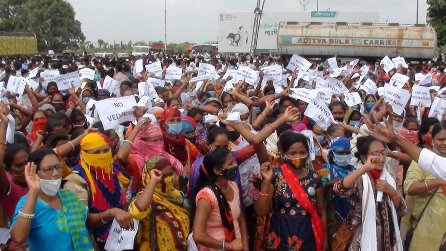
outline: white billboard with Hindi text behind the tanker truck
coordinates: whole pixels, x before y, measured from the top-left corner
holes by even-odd
[[[379,12],[263,12],[257,40],[258,52],[277,50],[279,25],[295,22],[379,23]],[[218,14],[218,50],[248,53],[252,40],[254,13],[223,12]]]

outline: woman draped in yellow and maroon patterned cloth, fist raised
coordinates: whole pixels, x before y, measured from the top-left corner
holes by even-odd
[[[145,161],[142,190],[129,206],[129,212],[141,221],[140,250],[186,250],[190,232],[189,212],[178,174],[170,161],[158,156]]]

